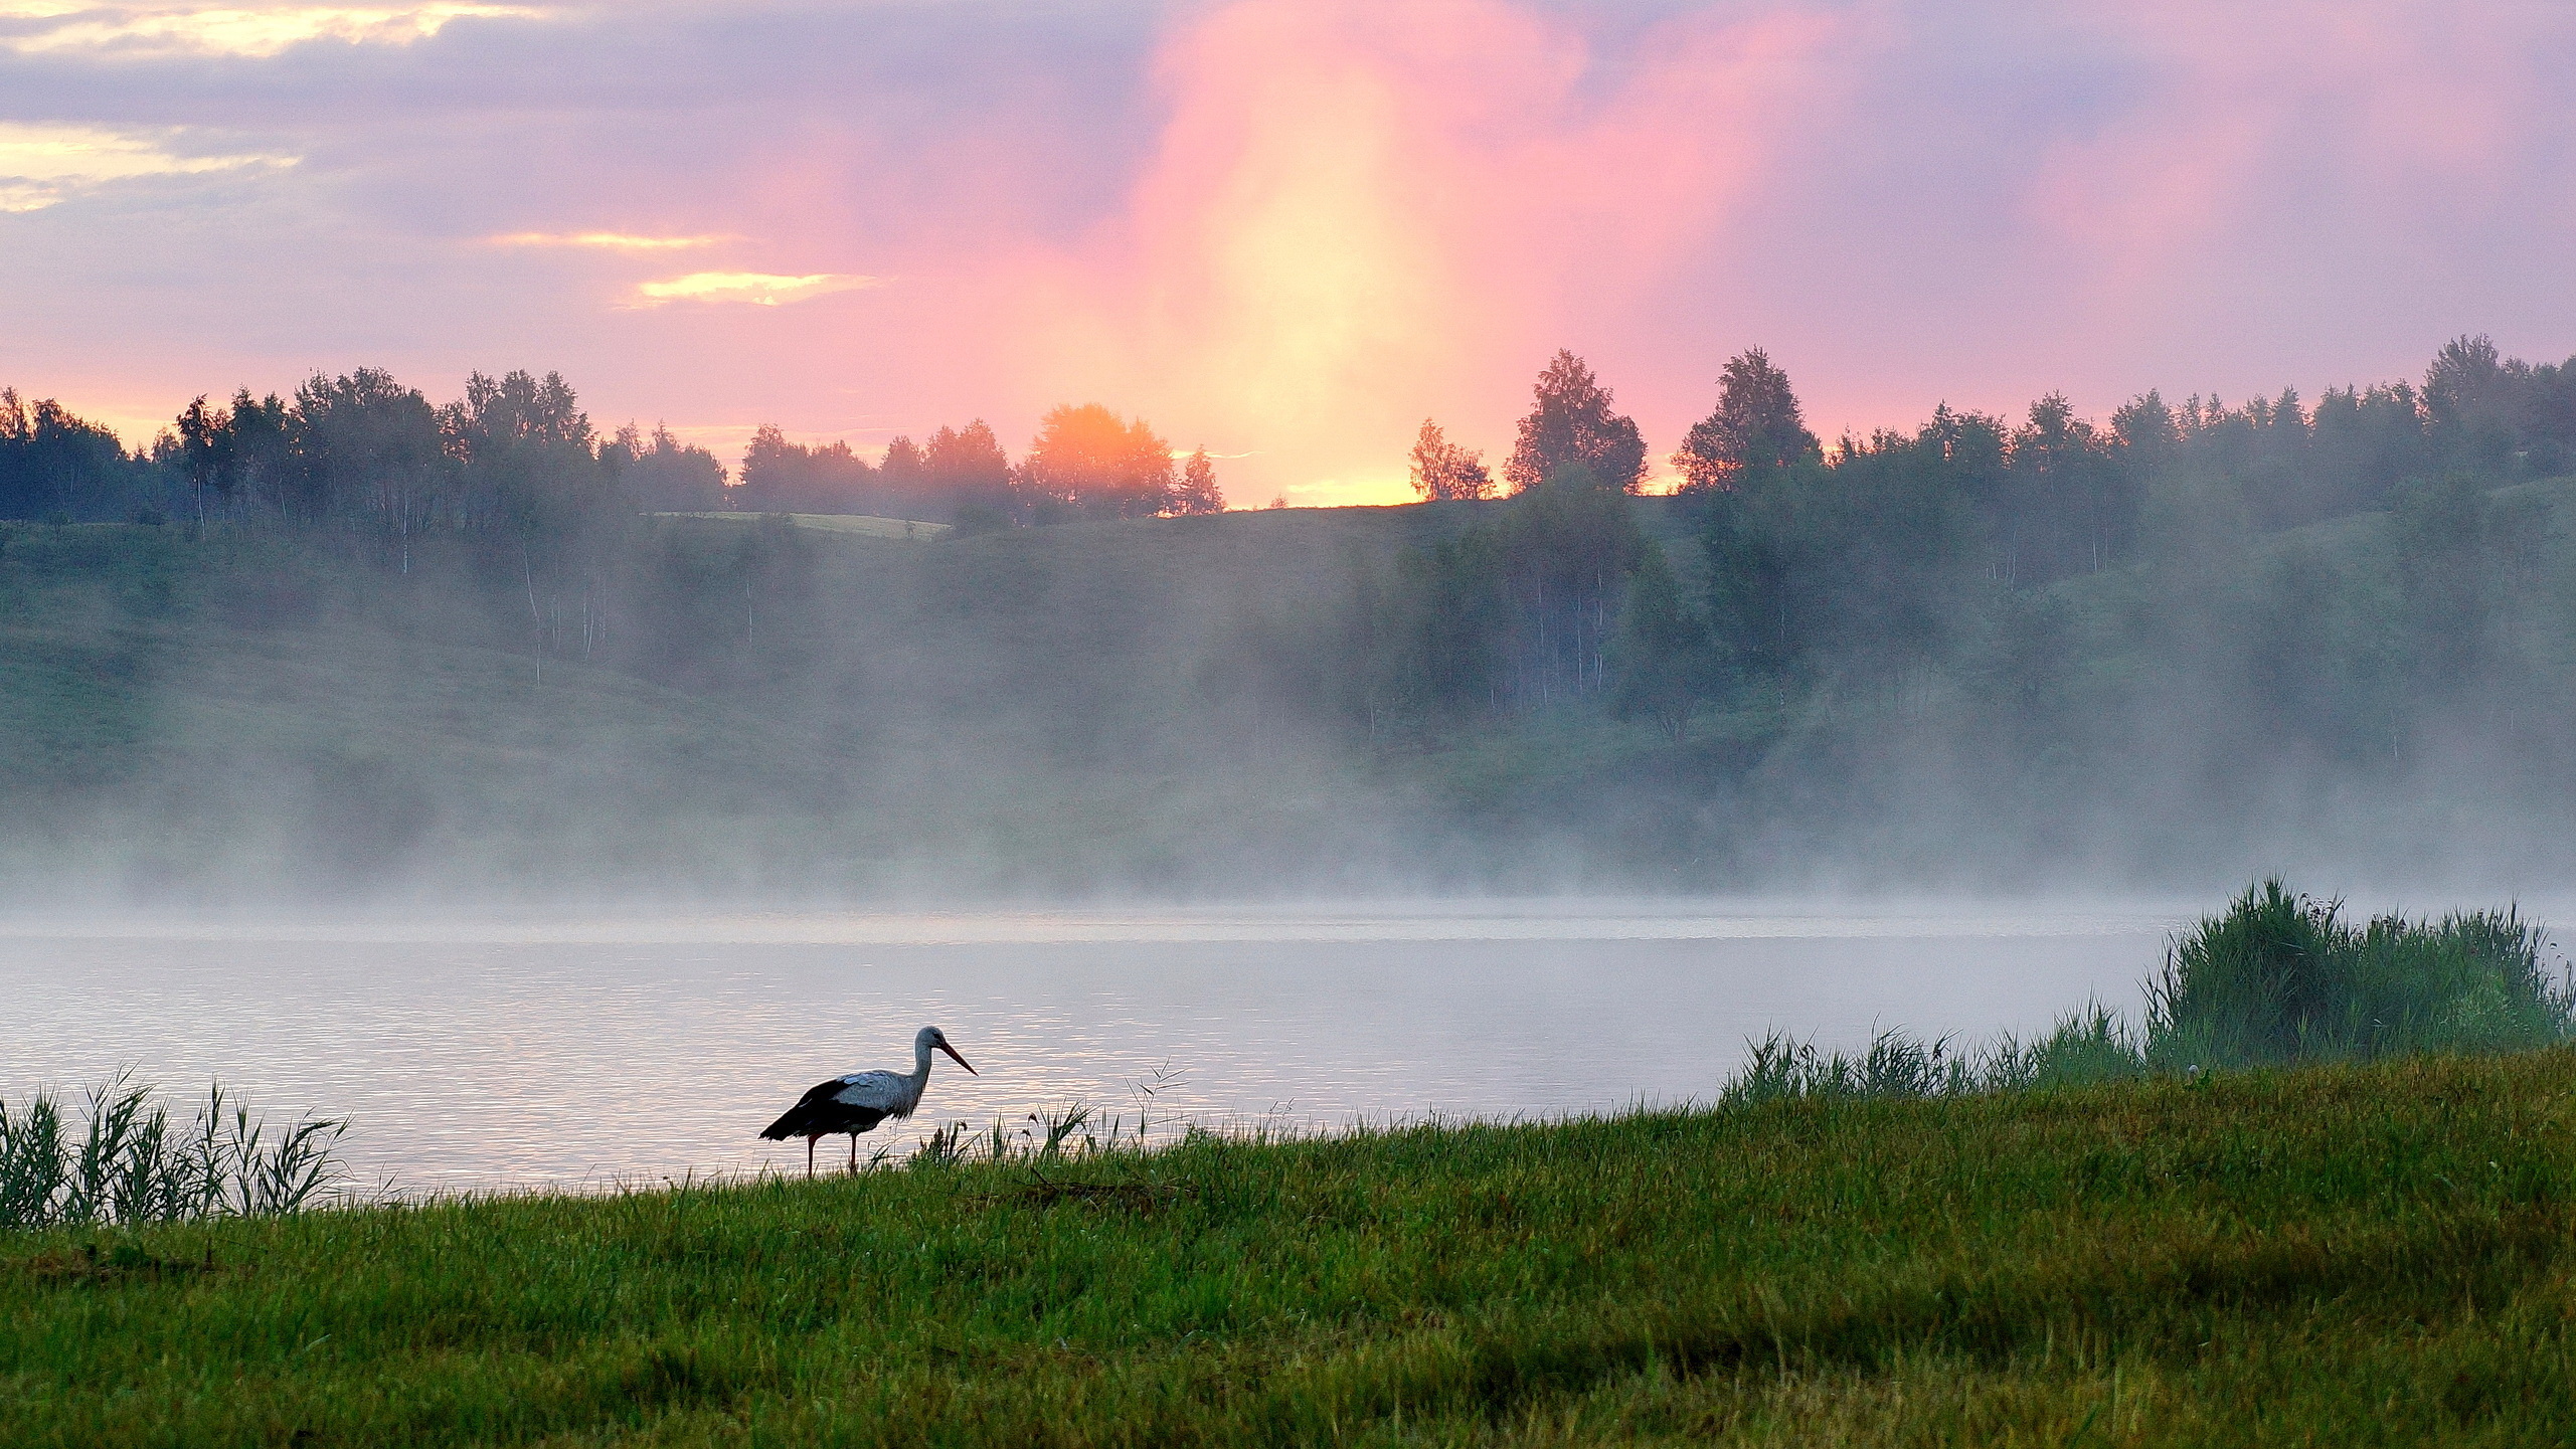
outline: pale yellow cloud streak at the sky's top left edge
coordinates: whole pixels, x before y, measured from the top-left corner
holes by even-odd
[[[18,33],[0,46],[21,54],[232,54],[273,57],[304,41],[392,44],[425,41],[453,21],[544,15],[538,5],[484,0],[433,0],[422,5],[75,5],[62,0],[0,0],[0,21]]]

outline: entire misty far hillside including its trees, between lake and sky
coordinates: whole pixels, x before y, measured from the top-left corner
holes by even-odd
[[[2576,360],[2483,337],[1832,443],[1747,350],[1664,456],[1558,353],[1497,466],[1425,422],[1422,504],[1283,512],[1097,404],[1018,461],[969,422],[726,466],[551,373],[317,376],[134,453],[8,391],[0,870],[191,880],[170,831],[227,818],[273,842],[242,888],[492,842],[814,893],[2550,870],[2571,450]]]

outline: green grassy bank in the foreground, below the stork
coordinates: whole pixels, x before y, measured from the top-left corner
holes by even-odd
[[[0,1241],[13,1444],[2543,1444],[2576,1053]]]

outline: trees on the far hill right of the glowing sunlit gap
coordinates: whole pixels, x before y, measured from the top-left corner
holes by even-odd
[[[1669,456],[1695,558],[1633,517],[1649,450],[1571,353],[1533,383],[1494,471],[1425,420],[1425,502],[1494,499],[1453,538],[1360,584],[1368,661],[1345,708],[1370,731],[1595,697],[1674,736],[1692,710],[1819,659],[1896,674],[2017,628],[2048,584],[2197,535],[2421,512],[2442,486],[2576,463],[2576,358],[2445,345],[2421,386],[2223,404],[2148,391],[2107,422],[2063,394],[2022,420],[1937,407],[1914,430],[1824,445],[1752,347]]]

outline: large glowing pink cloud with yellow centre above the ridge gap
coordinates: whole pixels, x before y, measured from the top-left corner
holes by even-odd
[[[1829,95],[1839,31],[1685,15],[1595,93],[1577,26],[1497,0],[1226,5],[1162,49],[1131,206],[1007,268],[1012,363],[1293,497],[1401,497],[1427,412],[1502,445],[1556,345],[1672,283]]]

